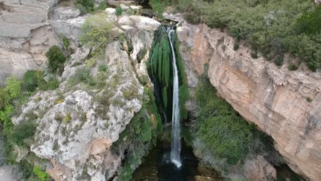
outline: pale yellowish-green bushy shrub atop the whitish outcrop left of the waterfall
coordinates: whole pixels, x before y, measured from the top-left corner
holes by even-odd
[[[110,39],[110,31],[113,24],[107,20],[106,14],[95,14],[82,25],[83,34],[80,36],[82,44],[88,43],[89,46],[96,44],[106,45]]]

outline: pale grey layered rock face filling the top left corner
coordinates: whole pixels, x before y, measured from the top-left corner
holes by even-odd
[[[47,13],[58,2],[0,2],[0,84],[8,75],[21,76],[28,69],[38,69],[45,64],[45,52],[57,44],[47,21]]]

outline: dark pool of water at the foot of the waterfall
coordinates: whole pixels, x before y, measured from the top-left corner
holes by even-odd
[[[198,164],[191,147],[182,145],[182,167],[170,161],[170,143],[158,143],[143,158],[143,163],[134,171],[132,181],[219,181],[223,180],[215,170]]]

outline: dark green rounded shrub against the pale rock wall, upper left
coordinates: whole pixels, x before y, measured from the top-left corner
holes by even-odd
[[[51,73],[56,73],[57,71],[61,73],[64,69],[64,62],[66,58],[62,54],[60,48],[53,45],[46,53],[48,58],[48,68]]]

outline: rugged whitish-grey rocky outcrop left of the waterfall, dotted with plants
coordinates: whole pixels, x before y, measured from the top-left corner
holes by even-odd
[[[115,11],[109,15],[115,15],[112,13]],[[86,45],[75,49],[59,78],[60,87],[36,93],[21,108],[22,113],[12,119],[18,124],[29,119],[28,115],[36,115],[38,127],[31,151],[50,160],[47,173],[54,180],[94,181],[115,176],[124,151],[115,153],[111,147],[134,113],[141,110],[144,93],[141,78],[147,77],[145,84],[152,86],[145,61],[154,30],[160,23],[139,16],[122,16],[121,19],[128,19],[126,25],[130,28],[121,29],[121,20],[115,19],[115,25],[120,26],[115,28],[127,40],[115,38],[105,46],[103,55],[91,58],[95,60],[92,67],[86,65],[86,59],[93,50]],[[138,61],[137,54],[143,50],[145,54]],[[99,65],[108,67],[103,80],[106,86],[91,88],[80,82],[71,83],[79,70],[90,69],[91,76],[99,76]]]

